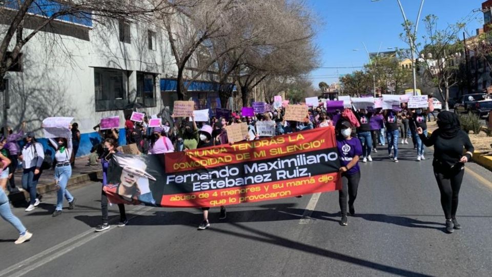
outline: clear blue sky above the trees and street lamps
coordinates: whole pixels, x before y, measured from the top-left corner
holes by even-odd
[[[448,24],[467,23],[465,30],[473,36],[477,28],[482,28],[483,13],[473,12],[481,8],[482,0],[425,0],[418,37],[425,34],[422,18],[428,14],[436,15],[438,27]],[[401,0],[408,20],[415,23],[420,0]],[[307,5],[321,22],[316,27],[315,44],[321,52],[319,67],[311,72],[313,87],[319,82],[337,82],[338,74],[351,73],[368,62],[364,50],[368,52],[391,51],[387,48],[407,48],[400,39],[403,32],[403,16],[397,0],[308,0]],[[460,37],[462,37],[462,32]],[[358,49],[354,51],[354,49]],[[337,68],[338,67],[338,68]],[[345,68],[344,68],[345,67]]]

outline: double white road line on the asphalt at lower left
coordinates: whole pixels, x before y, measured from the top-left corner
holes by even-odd
[[[135,209],[131,210],[130,212],[138,211],[138,210],[140,210],[140,209],[142,209],[144,207],[145,206],[138,206]],[[147,207],[147,209],[144,209],[142,211],[137,212],[135,215],[133,215],[132,217],[130,217],[130,220],[131,219],[134,219],[136,216],[141,215],[141,214],[143,214],[143,213],[145,213],[145,212],[147,212],[147,211],[149,211],[151,209],[152,209],[152,207]],[[112,230],[112,229],[110,229],[110,230]],[[10,273],[10,272],[12,272],[14,270],[17,270],[19,268],[23,268],[21,271],[16,272],[13,275],[11,275],[11,276],[22,276],[22,275],[28,273],[29,271],[31,271],[33,269],[36,269],[37,267],[42,266],[42,265],[44,265],[44,264],[46,264],[46,263],[48,263],[48,262],[50,262],[50,261],[58,258],[62,254],[65,254],[65,253],[67,253],[67,252],[69,252],[69,251],[71,251],[71,250],[73,250],[73,249],[75,249],[75,248],[77,248],[77,247],[79,247],[79,246],[81,246],[81,245],[89,242],[89,241],[92,241],[93,239],[97,238],[99,235],[101,235],[103,233],[106,233],[106,232],[100,232],[100,233],[94,234],[94,229],[87,230],[87,231],[85,231],[85,232],[83,232],[81,234],[78,234],[78,235],[74,236],[71,239],[68,239],[68,240],[66,240],[64,242],[61,242],[61,243],[59,243],[59,244],[51,247],[51,248],[48,248],[48,249],[46,249],[46,250],[44,250],[42,252],[39,252],[39,253],[33,255],[29,259],[26,259],[26,260],[24,260],[22,262],[19,262],[19,263],[13,265],[13,266],[10,266],[10,267],[8,267],[8,268],[0,271],[0,276],[4,276],[4,275],[6,275],[6,274],[8,274],[8,273]],[[80,242],[84,242],[84,243],[82,243],[82,244],[80,244],[80,242],[74,243],[74,242],[76,242],[76,241],[84,238],[84,236],[87,236],[89,234],[94,234],[94,235],[93,236],[89,236],[88,238],[80,241]],[[42,259],[44,256],[47,256],[50,253],[52,253],[52,252],[54,252],[54,251],[56,251],[56,250],[58,250],[60,248],[63,248],[65,246],[67,246],[67,245],[70,245],[70,246],[68,248],[64,249],[64,250],[57,251],[55,254],[53,254],[53,255],[51,255],[51,256],[49,256],[49,257],[47,257],[47,258],[45,258],[45,259],[43,259],[43,260],[41,260],[41,261],[39,261],[37,263],[35,263],[35,264],[32,264],[32,262],[34,262],[34,261],[36,261],[38,259]]]

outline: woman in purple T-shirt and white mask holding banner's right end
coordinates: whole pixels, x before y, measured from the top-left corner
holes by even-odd
[[[338,191],[338,202],[342,219],[340,225],[346,226],[347,220],[347,195],[348,211],[355,214],[354,202],[357,197],[357,189],[360,181],[359,157],[362,155],[362,144],[357,137],[352,137],[352,125],[346,120],[340,120],[336,126],[337,148],[340,157],[340,173],[342,177],[342,189]]]

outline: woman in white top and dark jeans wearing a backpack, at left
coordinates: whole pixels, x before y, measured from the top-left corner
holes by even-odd
[[[39,194],[37,194],[36,186],[39,177],[43,173],[41,166],[45,159],[45,152],[43,145],[36,142],[32,132],[27,133],[24,142],[25,145],[22,147],[22,153],[19,156],[19,160],[23,161],[22,167],[24,169],[22,187],[29,191],[29,207],[27,207],[26,211],[32,211],[39,205]]]

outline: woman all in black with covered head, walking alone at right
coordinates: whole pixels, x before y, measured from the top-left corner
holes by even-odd
[[[434,146],[434,175],[441,192],[441,205],[446,217],[446,232],[461,229],[456,220],[458,195],[465,171],[465,163],[473,156],[473,145],[468,134],[460,128],[458,115],[442,111],[437,115],[437,125],[430,137],[423,134],[422,128],[417,133],[425,146]],[[463,155],[463,148],[466,153]]]

